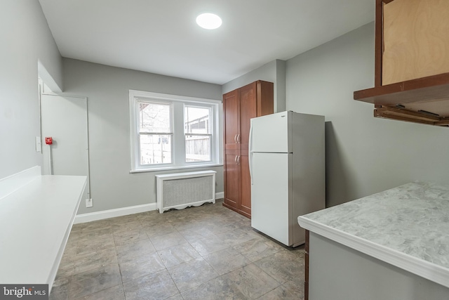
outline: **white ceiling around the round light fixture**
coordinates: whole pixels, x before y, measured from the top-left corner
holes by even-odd
[[[225,84],[374,20],[374,0],[39,0],[62,56]],[[217,30],[196,25],[210,11]]]

